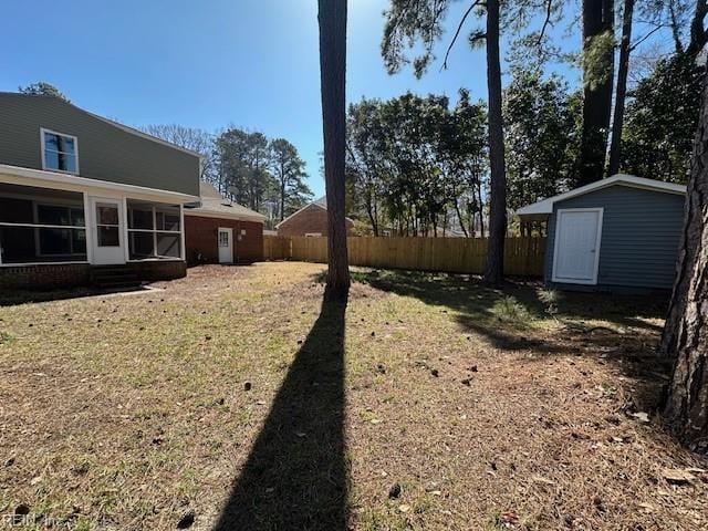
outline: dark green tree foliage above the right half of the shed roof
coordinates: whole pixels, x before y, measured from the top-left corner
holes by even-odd
[[[653,74],[629,93],[623,132],[623,171],[686,183],[702,72],[690,54],[675,54],[659,61]]]

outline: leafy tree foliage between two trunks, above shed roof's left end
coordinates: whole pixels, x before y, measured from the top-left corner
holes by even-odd
[[[537,69],[512,69],[504,91],[504,139],[509,207],[554,196],[576,180],[581,95]]]

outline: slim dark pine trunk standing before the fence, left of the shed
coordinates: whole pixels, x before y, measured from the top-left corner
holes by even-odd
[[[504,235],[507,232],[507,176],[501,117],[501,66],[499,62],[499,0],[487,1],[487,87],[489,91],[491,200],[485,282],[499,284],[504,278]]]

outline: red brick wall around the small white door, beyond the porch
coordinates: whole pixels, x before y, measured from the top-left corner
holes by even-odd
[[[201,216],[185,216],[185,248],[187,263],[218,263],[219,248],[217,247],[217,229],[223,227],[233,229],[233,261],[250,263],[263,259],[263,223],[254,221],[238,221],[225,218],[206,218]],[[246,230],[246,235],[239,235]],[[197,259],[201,254],[201,261]]]

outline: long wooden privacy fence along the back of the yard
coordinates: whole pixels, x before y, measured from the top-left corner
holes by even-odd
[[[269,241],[279,240],[279,241]],[[487,240],[472,238],[347,238],[350,264],[413,271],[480,274],[487,263]],[[543,275],[545,238],[507,238],[504,273]],[[326,238],[264,237],[266,260],[327,261]]]

